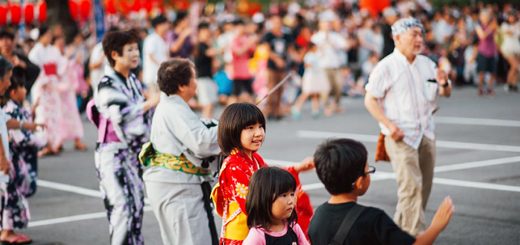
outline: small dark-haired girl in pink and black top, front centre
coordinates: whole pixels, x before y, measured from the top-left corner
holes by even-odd
[[[243,245],[310,244],[296,214],[296,180],[287,171],[264,167],[249,182],[246,199],[249,234]]]

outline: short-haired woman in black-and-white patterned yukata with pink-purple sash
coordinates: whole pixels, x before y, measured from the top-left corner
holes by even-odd
[[[139,65],[137,41],[137,36],[128,31],[105,35],[103,50],[112,69],[98,84],[91,113],[98,127],[96,169],[107,209],[111,244],[144,243],[143,170],[137,155],[148,141],[150,109],[159,98],[145,99],[141,82],[130,71]]]

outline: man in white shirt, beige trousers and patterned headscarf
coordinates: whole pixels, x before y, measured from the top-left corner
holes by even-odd
[[[423,26],[414,18],[392,25],[395,50],[381,60],[366,86],[365,106],[386,136],[386,152],[396,173],[394,221],[411,235],[424,231],[424,209],[435,166],[433,113],[451,83],[435,63],[420,55]]]

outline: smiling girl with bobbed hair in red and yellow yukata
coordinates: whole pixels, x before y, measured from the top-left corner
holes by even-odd
[[[267,166],[257,153],[264,139],[265,118],[258,107],[235,103],[224,110],[218,125],[218,142],[227,157],[212,191],[217,213],[223,220],[220,244],[242,244],[247,237],[246,196],[253,173]],[[297,175],[312,168],[314,162],[307,158],[291,169]]]

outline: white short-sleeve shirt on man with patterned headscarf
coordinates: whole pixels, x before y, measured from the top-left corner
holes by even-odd
[[[397,49],[381,60],[368,79],[366,91],[379,99],[385,115],[404,132],[403,141],[417,149],[422,136],[434,140],[433,111],[438,85],[435,63],[418,55],[412,63]],[[379,123],[381,132],[390,131]]]

